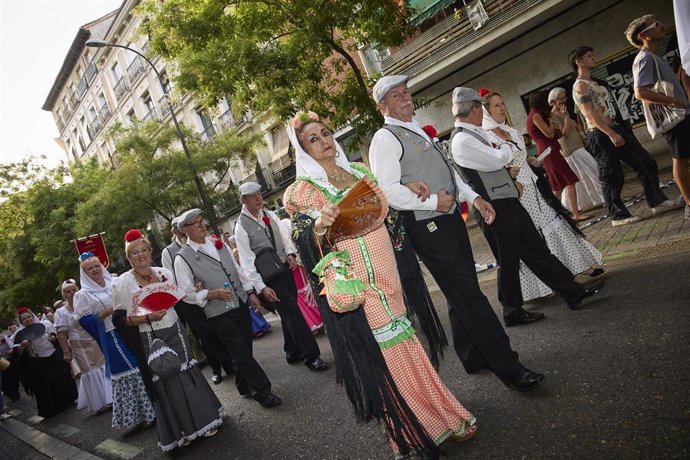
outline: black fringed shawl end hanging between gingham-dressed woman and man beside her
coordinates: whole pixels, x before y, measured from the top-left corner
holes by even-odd
[[[448,346],[446,332],[431,301],[431,295],[424,282],[424,275],[412,244],[405,234],[402,217],[395,209],[389,209],[386,227],[393,243],[395,262],[398,265],[407,306],[407,316],[410,320],[414,320],[415,317],[418,319],[417,322],[429,344],[429,359],[438,370],[439,355],[443,357],[443,350]]]

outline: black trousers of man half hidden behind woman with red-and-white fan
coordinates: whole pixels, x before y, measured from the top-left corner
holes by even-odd
[[[208,322],[203,308],[187,302],[178,302],[175,305],[175,311],[183,323],[189,324],[189,329],[194,334],[194,337],[201,341],[208,364],[213,369],[213,373],[220,374],[222,366],[226,374],[233,374],[235,365],[232,362],[232,358],[230,358],[223,342],[221,342],[218,334],[216,334],[216,331],[213,330]]]

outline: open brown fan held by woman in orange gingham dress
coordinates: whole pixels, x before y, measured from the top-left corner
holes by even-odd
[[[333,243],[371,232],[388,214],[385,195],[367,176],[358,180],[336,204],[340,215],[326,236]]]

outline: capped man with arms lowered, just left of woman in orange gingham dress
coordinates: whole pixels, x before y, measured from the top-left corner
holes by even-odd
[[[257,292],[280,314],[285,358],[288,363],[302,361],[312,371],[325,371],[328,364],[321,359],[319,345],[297,305],[297,286],[290,271],[297,266],[292,239],[278,217],[264,209],[259,184],[244,183],[239,194],[242,212],[235,223],[235,243],[240,265]],[[258,308],[259,299],[255,302]]]

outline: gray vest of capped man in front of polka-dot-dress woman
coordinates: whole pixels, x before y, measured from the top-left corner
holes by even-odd
[[[479,134],[463,128],[455,128],[450,135],[451,142],[456,134],[464,132],[486,145],[491,145]],[[502,200],[506,198],[518,198],[517,187],[513,178],[506,168],[501,168],[496,171],[483,172],[475,169],[457,166],[458,173],[463,180],[469,185],[475,193],[478,193],[484,200]]]

